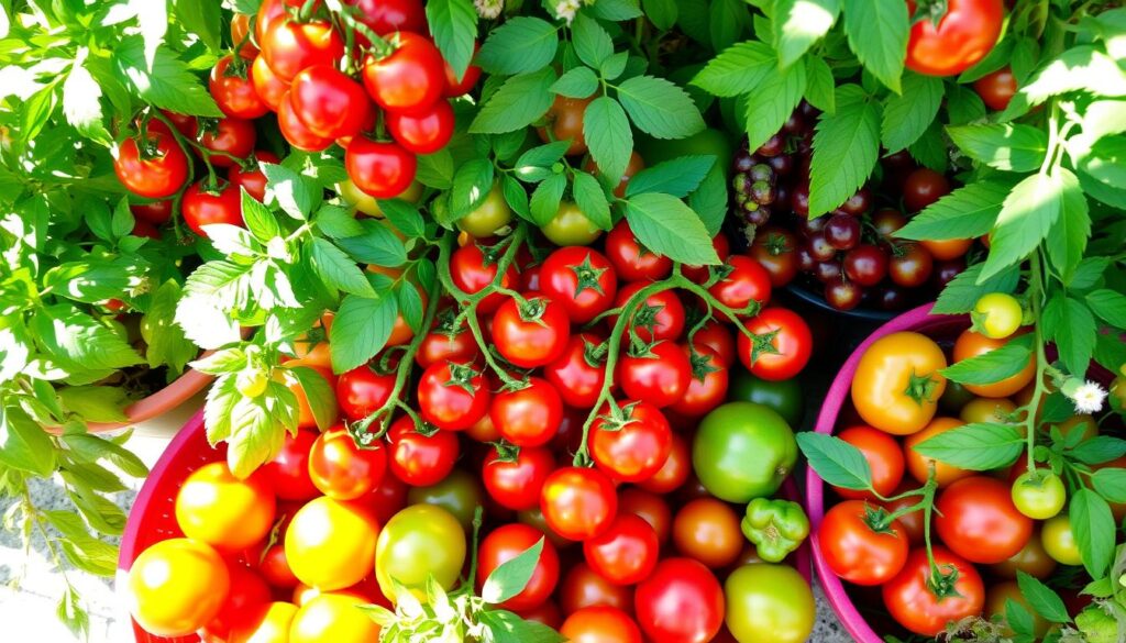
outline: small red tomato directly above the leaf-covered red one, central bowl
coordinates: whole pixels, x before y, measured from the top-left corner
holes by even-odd
[[[539,492],[554,470],[555,457],[547,448],[492,449],[481,467],[481,480],[502,507],[527,511],[539,507]]]

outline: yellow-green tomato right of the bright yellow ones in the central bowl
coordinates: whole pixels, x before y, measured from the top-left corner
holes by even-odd
[[[384,596],[395,596],[395,580],[420,598],[434,577],[452,589],[465,563],[465,532],[449,511],[412,504],[391,517],[375,546],[375,578]]]

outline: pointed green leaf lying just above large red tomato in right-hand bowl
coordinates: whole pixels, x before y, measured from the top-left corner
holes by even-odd
[[[1016,425],[976,422],[928,438],[914,450],[959,468],[990,471],[1016,462],[1025,450],[1025,438]]]

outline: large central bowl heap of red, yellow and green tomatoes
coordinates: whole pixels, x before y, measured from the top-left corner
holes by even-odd
[[[123,547],[143,631],[350,643],[448,600],[551,640],[810,635],[792,566],[810,526],[783,484],[811,334],[754,259],[682,267],[622,222],[542,261],[520,234],[471,240],[439,275],[429,330],[369,364],[333,374],[324,324],[301,363],[327,375],[333,417],[304,403],[245,480],[202,426],[184,440],[206,464],[166,455],[131,523],[175,524]]]

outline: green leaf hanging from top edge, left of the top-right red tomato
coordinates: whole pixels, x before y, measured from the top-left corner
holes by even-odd
[[[908,6],[900,0],[843,0],[844,34],[860,63],[900,93],[908,54]]]

